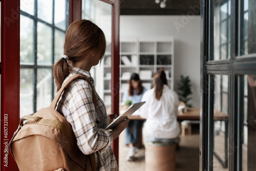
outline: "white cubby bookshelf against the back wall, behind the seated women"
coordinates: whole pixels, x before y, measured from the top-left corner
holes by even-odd
[[[173,37],[121,37],[120,39],[120,102],[132,73],[138,73],[143,86],[153,86],[153,75],[160,68],[166,71],[168,86],[174,88]],[[94,68],[97,92],[106,109],[111,106],[111,44],[107,42],[104,58]]]

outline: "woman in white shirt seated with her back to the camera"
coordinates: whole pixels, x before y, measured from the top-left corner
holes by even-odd
[[[145,118],[143,138],[175,139],[180,135],[177,121],[179,97],[167,86],[163,69],[153,77],[154,88],[144,93],[141,101],[146,103],[140,109]]]

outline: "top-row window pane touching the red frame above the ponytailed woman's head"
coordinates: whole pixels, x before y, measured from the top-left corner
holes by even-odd
[[[54,9],[54,24],[63,30],[66,29],[66,1],[55,0]]]

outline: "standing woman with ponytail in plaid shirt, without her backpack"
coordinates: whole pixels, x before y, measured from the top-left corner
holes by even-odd
[[[104,33],[90,20],[77,20],[69,26],[64,55],[53,68],[57,90],[73,75],[86,76],[92,87],[85,79],[74,80],[63,92],[56,110],[71,124],[81,152],[85,155],[94,153],[96,170],[117,170],[111,143],[125,129],[129,119],[119,123],[111,132],[104,129],[109,116],[104,102],[95,91],[94,79],[89,72],[103,58],[105,48]]]

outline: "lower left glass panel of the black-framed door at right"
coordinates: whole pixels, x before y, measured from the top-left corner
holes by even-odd
[[[209,170],[228,170],[229,76],[210,75],[208,154]]]

